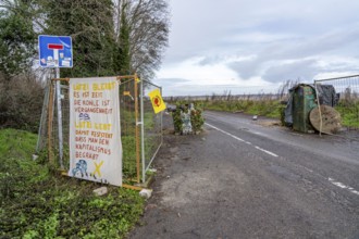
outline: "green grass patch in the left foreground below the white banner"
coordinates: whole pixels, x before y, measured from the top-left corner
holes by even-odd
[[[0,238],[124,238],[143,214],[137,191],[59,176],[35,162],[37,136],[0,130]]]

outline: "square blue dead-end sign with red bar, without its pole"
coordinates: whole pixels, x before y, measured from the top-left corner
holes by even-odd
[[[71,37],[39,35],[38,40],[41,67],[72,67]]]

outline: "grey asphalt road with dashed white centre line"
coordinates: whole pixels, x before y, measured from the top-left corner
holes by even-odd
[[[129,238],[359,238],[359,142],[206,112],[174,136]]]

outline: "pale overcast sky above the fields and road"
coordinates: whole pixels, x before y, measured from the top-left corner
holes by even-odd
[[[170,0],[164,96],[275,92],[359,73],[357,0]]]

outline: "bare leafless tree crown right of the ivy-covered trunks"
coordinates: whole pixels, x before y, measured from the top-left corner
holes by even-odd
[[[122,8],[127,10],[123,11]],[[129,27],[131,72],[151,78],[159,68],[169,40],[169,4],[165,0],[117,0],[114,4],[115,34],[120,38],[121,14]],[[119,40],[117,40],[119,41]]]

